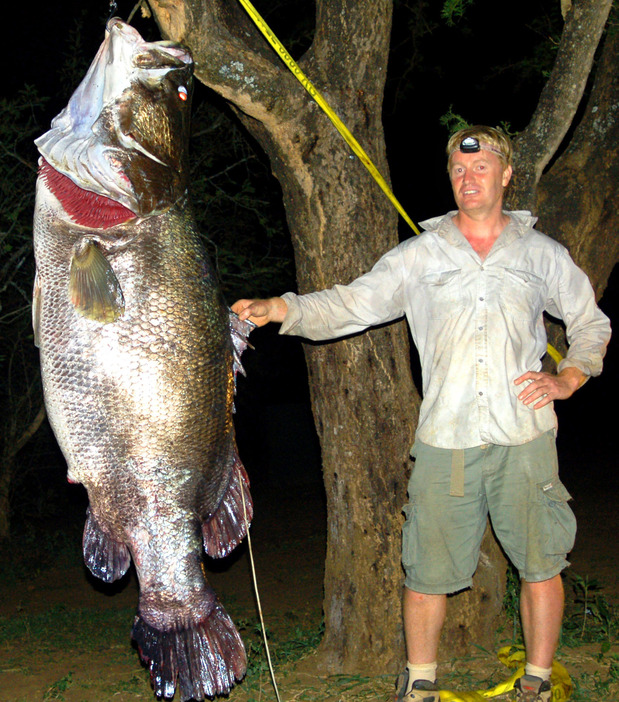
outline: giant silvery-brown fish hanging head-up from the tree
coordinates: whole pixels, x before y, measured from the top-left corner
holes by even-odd
[[[154,692],[227,693],[240,636],[205,577],[251,518],[232,421],[250,327],[230,315],[187,194],[193,62],[118,19],[36,140],[35,343],[68,479],[88,491],[83,552],[131,560],[133,625]],[[244,519],[246,513],[247,519]]]

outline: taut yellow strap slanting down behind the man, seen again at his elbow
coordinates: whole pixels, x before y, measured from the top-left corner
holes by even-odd
[[[292,56],[286,51],[286,48],[284,45],[281,43],[281,41],[275,36],[275,33],[273,30],[269,27],[269,25],[264,21],[263,17],[260,15],[258,10],[251,4],[249,0],[239,0],[241,5],[245,8],[245,11],[247,14],[251,17],[253,20],[254,24],[258,29],[262,32],[266,40],[269,42],[269,44],[273,47],[277,55],[281,58],[281,60],[288,66],[290,69],[291,73],[295,76],[295,78],[301,83],[301,85],[307,90],[307,92],[312,96],[312,98],[315,100],[315,102],[321,107],[322,111],[327,115],[327,117],[331,120],[335,128],[338,130],[338,132],[342,135],[346,143],[350,146],[350,148],[353,150],[353,153],[357,156],[357,158],[363,163],[363,165],[368,169],[374,180],[380,185],[382,191],[385,193],[385,195],[391,200],[393,206],[396,208],[396,210],[402,215],[402,218],[404,221],[410,226],[410,228],[415,232],[415,234],[419,234],[419,229],[413,222],[413,220],[408,216],[406,213],[406,210],[402,207],[402,205],[399,203],[398,199],[396,196],[393,194],[391,188],[387,185],[387,181],[382,177],[380,174],[379,170],[376,168],[370,157],[365,153],[363,150],[363,147],[359,142],[355,139],[355,137],[352,135],[348,127],[342,122],[342,120],[335,114],[335,112],[331,109],[331,106],[329,103],[322,97],[322,95],[318,92],[314,84],[310,81],[310,79],[303,73],[303,71],[299,68],[298,64],[296,61],[292,58]],[[552,356],[552,358],[555,360],[555,362],[558,364],[559,361],[563,358],[561,354],[550,344],[548,344],[548,353]]]

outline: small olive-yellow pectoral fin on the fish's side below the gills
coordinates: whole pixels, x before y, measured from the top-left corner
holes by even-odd
[[[125,311],[120,283],[92,240],[84,240],[71,259],[69,296],[82,316],[103,324],[115,322]]]

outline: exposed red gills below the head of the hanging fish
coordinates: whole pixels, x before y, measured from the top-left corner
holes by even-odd
[[[44,158],[41,158],[39,165],[39,177],[60,201],[71,220],[83,227],[109,229],[137,217],[135,212],[120,202],[80,188]]]

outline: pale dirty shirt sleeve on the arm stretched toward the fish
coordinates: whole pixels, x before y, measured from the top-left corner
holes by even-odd
[[[396,247],[349,285],[335,285],[307,295],[282,295],[288,311],[280,334],[321,341],[390,322],[404,316],[403,287],[402,254]]]

